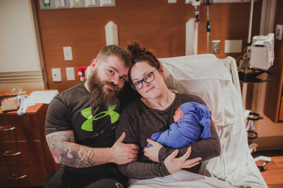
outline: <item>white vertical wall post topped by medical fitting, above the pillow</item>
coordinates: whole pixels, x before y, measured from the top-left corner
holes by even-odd
[[[186,55],[197,55],[197,33],[200,22],[198,6],[201,2],[200,0],[185,0],[185,3],[191,3],[195,9],[195,18],[190,18],[186,22]]]

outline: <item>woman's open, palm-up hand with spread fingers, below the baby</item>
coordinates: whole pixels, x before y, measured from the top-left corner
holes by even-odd
[[[182,157],[176,158],[178,152],[178,149],[176,149],[164,160],[164,164],[170,174],[182,168],[191,168],[198,165],[199,162],[197,161],[202,159],[200,157],[188,159],[191,154],[191,147],[188,148],[187,152]]]

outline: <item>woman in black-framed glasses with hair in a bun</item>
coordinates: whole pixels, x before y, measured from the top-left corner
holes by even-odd
[[[163,80],[164,69],[151,51],[136,42],[129,44],[128,50],[133,64],[129,71],[131,87],[141,97],[123,109],[116,137],[125,132],[124,143],[137,144],[141,151],[138,161],[118,165],[119,170],[133,179],[164,177],[180,169],[209,176],[203,161],[220,155],[220,142],[214,126],[210,126],[211,137],[177,150],[148,139],[153,133],[169,128],[181,104],[205,103],[197,96],[169,91]],[[153,147],[147,148],[147,144]]]

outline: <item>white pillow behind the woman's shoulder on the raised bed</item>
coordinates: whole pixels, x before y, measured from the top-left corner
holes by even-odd
[[[169,89],[203,99],[218,126],[235,123],[230,89],[232,77],[222,60],[212,54],[158,59]]]

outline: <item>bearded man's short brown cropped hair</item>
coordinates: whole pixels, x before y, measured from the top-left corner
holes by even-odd
[[[99,51],[96,59],[99,63],[99,60],[107,60],[109,56],[118,57],[121,61],[124,62],[125,67],[130,68],[132,66],[130,53],[121,46],[114,44],[105,46]]]

